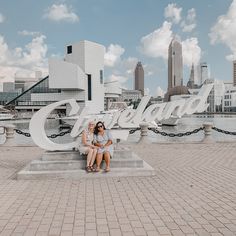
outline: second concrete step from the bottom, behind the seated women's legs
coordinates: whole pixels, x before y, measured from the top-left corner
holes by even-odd
[[[29,170],[41,171],[41,170],[78,170],[85,169],[86,160],[54,160],[54,161],[42,161],[35,160],[30,163]],[[103,161],[102,167],[105,166]],[[111,159],[111,168],[122,167],[143,167],[143,160],[139,158],[131,159]]]

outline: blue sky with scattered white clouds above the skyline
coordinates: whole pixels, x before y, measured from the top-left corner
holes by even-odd
[[[152,95],[167,87],[167,48],[183,45],[184,84],[192,62],[211,77],[232,80],[236,58],[236,0],[8,0],[0,1],[0,81],[14,74],[47,74],[47,59],[65,45],[90,40],[106,47],[105,76],[133,88],[137,61]]]

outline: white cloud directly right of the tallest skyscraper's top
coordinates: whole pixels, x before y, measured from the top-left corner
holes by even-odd
[[[184,65],[190,67],[192,63],[199,64],[201,59],[201,48],[197,38],[188,38],[182,42],[182,53]]]

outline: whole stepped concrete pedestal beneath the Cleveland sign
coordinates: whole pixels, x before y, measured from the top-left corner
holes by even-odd
[[[111,171],[106,173],[87,173],[86,156],[77,151],[45,152],[41,159],[32,161],[18,172],[17,179],[78,179],[119,176],[151,176],[154,169],[131,150],[122,148],[114,150],[111,159]],[[102,169],[105,163],[102,163]]]

